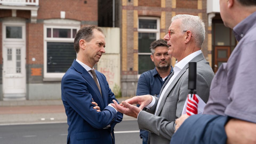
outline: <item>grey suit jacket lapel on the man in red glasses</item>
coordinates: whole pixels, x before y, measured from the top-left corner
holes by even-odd
[[[203,53],[197,55],[196,57],[194,57],[190,62],[198,62],[198,61],[201,61],[203,60],[205,57],[203,56]],[[170,91],[173,89],[173,87],[176,85],[176,83],[178,82],[178,80],[181,78],[181,76],[186,72],[186,70],[189,68],[189,63],[187,63],[183,69],[179,72],[179,74],[173,79],[173,81],[171,82],[170,86],[167,88],[167,90],[165,91],[165,93],[161,96],[162,99],[161,99],[161,102],[159,104],[159,107],[158,107],[158,110],[157,110],[157,113],[156,115],[158,116],[160,114],[160,112],[162,111],[163,109],[163,106],[165,104],[165,101],[166,101],[166,98],[167,96],[170,94]],[[174,73],[172,73],[170,75],[170,77],[173,76]],[[163,91],[163,88],[166,86],[166,84],[170,81],[170,77],[166,80],[166,82],[164,83],[162,89],[161,89],[161,92],[160,92],[160,95]],[[159,102],[159,101],[158,101]]]

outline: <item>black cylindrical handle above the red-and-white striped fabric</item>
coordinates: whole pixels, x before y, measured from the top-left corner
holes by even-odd
[[[191,94],[195,94],[197,89],[197,63],[189,62],[189,86],[188,89],[191,90]]]

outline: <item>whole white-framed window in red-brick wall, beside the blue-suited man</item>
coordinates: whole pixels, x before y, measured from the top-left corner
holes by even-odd
[[[74,37],[81,24],[64,19],[44,23],[44,78],[62,78],[76,58]]]

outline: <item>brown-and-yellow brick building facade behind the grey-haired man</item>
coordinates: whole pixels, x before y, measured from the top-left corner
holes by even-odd
[[[122,0],[121,14],[123,96],[135,95],[139,75],[154,68],[149,45],[166,35],[174,15],[199,15],[204,20],[206,29],[208,27],[206,0]],[[209,31],[206,31],[202,51],[211,65],[208,34]],[[172,59],[172,65],[174,64],[175,58]]]

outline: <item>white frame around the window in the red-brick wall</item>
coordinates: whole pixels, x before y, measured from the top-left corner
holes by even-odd
[[[73,30],[72,29],[77,29],[77,31],[81,27],[81,22],[80,21],[74,21],[74,20],[64,20],[61,19],[61,21],[58,21],[56,19],[53,20],[47,20],[44,22],[43,25],[43,78],[50,78],[50,79],[55,79],[57,78],[58,80],[63,77],[65,73],[48,73],[47,72],[47,42],[74,42],[73,38]],[[47,37],[47,28],[51,28],[51,37]],[[71,29],[71,38],[54,38],[53,37],[53,29]],[[74,50],[75,51],[75,50]],[[46,80],[47,81],[47,80]]]

